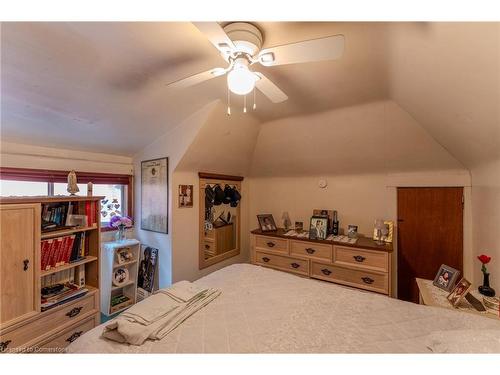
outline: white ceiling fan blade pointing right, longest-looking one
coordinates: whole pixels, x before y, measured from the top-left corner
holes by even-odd
[[[259,53],[259,61],[265,66],[297,64],[310,61],[335,60],[344,52],[344,36],[305,40],[282,46],[266,48]]]

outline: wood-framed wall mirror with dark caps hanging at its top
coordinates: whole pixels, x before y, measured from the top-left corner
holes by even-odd
[[[240,253],[243,177],[200,175],[200,269]]]

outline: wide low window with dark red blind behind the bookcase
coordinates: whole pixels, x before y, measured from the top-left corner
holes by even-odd
[[[1,196],[67,195],[67,171],[0,168]],[[112,215],[132,217],[132,176],[76,172],[79,195],[87,194],[87,182],[93,183],[93,195],[104,196],[101,224],[106,227]]]

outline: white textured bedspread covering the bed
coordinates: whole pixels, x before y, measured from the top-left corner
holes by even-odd
[[[195,283],[218,288],[222,294],[162,340],[141,346],[120,344],[100,337],[104,328],[100,325],[73,342],[68,352],[500,351],[500,321],[475,314],[416,305],[249,264],[226,267]],[[454,332],[468,345],[448,347],[447,333],[453,340]]]

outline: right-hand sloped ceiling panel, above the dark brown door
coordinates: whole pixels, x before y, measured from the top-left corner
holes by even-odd
[[[390,96],[468,168],[500,159],[500,24],[392,25]]]

